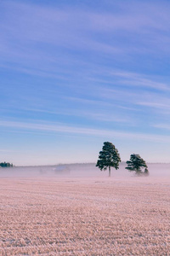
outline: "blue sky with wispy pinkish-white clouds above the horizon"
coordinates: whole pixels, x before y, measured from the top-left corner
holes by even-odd
[[[170,2],[0,1],[0,162],[170,162]]]

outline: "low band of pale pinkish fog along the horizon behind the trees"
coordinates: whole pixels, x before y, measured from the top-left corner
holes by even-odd
[[[134,177],[122,162],[120,168],[111,168],[112,177]],[[170,164],[148,164],[150,177],[169,177]],[[59,166],[26,166],[0,168],[0,177],[107,177],[108,170],[100,171],[95,164],[71,164]]]

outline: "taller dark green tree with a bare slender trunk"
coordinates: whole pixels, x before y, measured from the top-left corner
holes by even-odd
[[[99,167],[101,171],[105,171],[107,167],[109,167],[109,177],[111,177],[111,167],[117,170],[120,162],[121,158],[115,146],[109,142],[104,143],[102,151],[99,152],[99,160],[96,166]]]

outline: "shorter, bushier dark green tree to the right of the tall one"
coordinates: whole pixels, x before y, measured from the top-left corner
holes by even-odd
[[[139,154],[131,154],[130,160],[127,161],[126,169],[129,172],[136,172],[136,174],[138,175],[149,174],[148,166],[146,165],[145,161],[139,156]]]

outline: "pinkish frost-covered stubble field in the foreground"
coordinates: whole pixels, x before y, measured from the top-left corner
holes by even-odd
[[[170,255],[168,175],[116,173],[0,177],[0,255]]]

